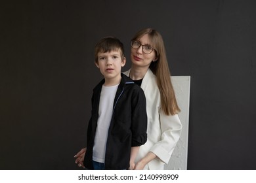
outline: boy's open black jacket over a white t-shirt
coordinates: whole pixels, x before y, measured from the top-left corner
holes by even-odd
[[[84,165],[93,169],[93,144],[98,120],[98,105],[104,79],[94,88],[91,119],[87,129],[87,152]],[[143,90],[121,74],[121,82],[114,99],[113,114],[108,129],[105,169],[128,169],[131,146],[140,146],[146,142],[146,98]]]

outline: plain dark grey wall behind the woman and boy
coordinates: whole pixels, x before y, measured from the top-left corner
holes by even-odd
[[[191,76],[188,169],[256,169],[256,1],[1,3],[0,169],[78,169],[94,46],[160,31],[171,74]],[[123,71],[124,71],[123,70]]]

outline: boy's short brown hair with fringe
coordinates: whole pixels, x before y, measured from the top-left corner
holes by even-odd
[[[123,43],[116,37],[104,37],[95,46],[95,62],[98,63],[98,53],[112,52],[118,49],[121,50],[121,58],[123,59],[125,54]]]

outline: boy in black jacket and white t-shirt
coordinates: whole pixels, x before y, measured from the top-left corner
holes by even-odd
[[[121,73],[123,44],[106,37],[95,46],[95,65],[104,79],[94,88],[87,149],[87,169],[133,169],[139,146],[146,142],[143,90]]]

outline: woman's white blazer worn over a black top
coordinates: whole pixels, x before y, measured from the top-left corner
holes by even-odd
[[[130,70],[124,72],[129,76]],[[169,162],[171,154],[181,136],[182,124],[178,114],[167,116],[161,110],[160,91],[156,83],[156,76],[148,69],[141,84],[146,96],[146,112],[148,115],[148,141],[140,146],[135,162],[153,152],[158,156],[144,167],[144,169],[163,169]]]

